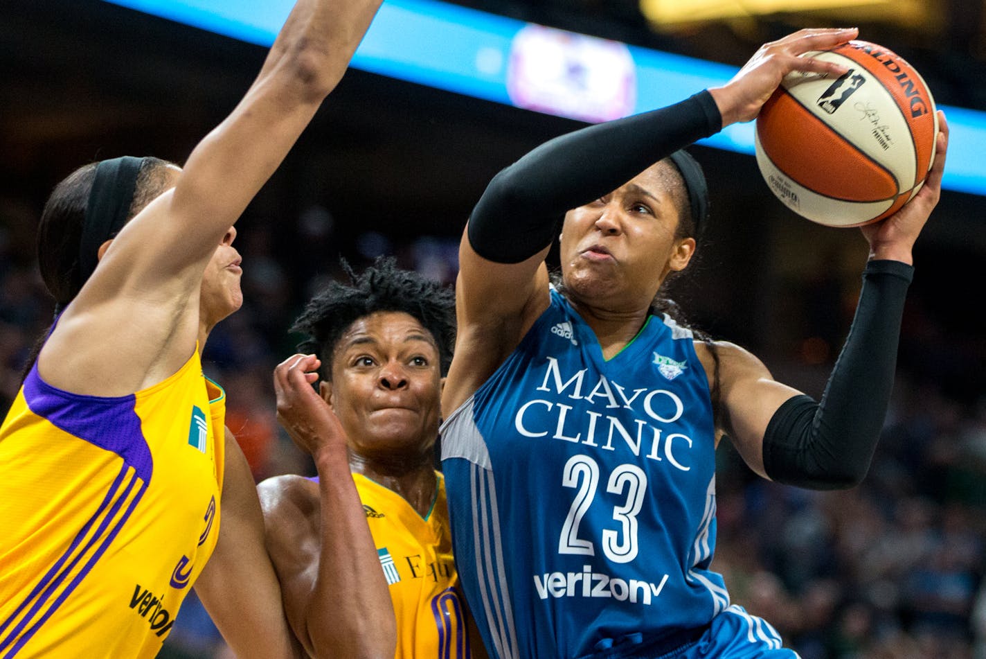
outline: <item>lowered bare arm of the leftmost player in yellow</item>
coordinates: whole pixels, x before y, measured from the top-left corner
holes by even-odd
[[[226,430],[222,519],[212,557],[195,592],[240,659],[304,657],[288,626],[270,556],[253,476],[233,433]]]

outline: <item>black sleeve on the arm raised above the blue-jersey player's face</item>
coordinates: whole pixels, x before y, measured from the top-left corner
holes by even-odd
[[[545,142],[502,170],[469,216],[469,245],[500,263],[547,247],[557,223],[695,140],[722,128],[707,91],[661,110],[588,126]]]

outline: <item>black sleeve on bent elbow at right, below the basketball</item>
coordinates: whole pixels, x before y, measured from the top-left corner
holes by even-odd
[[[767,425],[763,468],[771,479],[839,489],[866,476],[890,403],[900,318],[913,272],[896,260],[867,263],[856,317],[821,403],[796,396]]]

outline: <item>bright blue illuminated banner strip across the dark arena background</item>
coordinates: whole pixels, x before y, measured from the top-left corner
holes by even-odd
[[[269,46],[293,0],[106,0]],[[353,57],[364,71],[588,122],[654,110],[721,85],[736,67],[545,28],[437,0],[386,0]],[[934,90],[933,90],[934,92]],[[940,106],[951,127],[944,186],[986,195],[986,112]],[[753,122],[704,146],[753,154]]]

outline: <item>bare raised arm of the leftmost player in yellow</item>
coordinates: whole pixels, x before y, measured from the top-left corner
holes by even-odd
[[[175,187],[120,231],[94,275],[98,291],[80,300],[122,294],[185,313],[181,301],[338,83],[381,2],[298,0],[246,96],[195,146]]]

